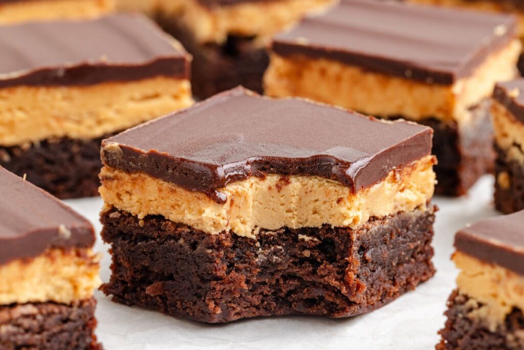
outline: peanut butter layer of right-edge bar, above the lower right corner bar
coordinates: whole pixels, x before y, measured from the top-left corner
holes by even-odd
[[[524,165],[524,124],[500,102],[492,102],[495,142],[509,160]]]

